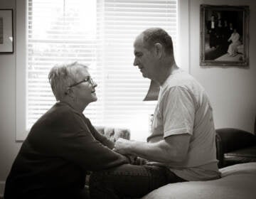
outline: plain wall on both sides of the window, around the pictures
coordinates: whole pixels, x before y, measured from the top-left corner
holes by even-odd
[[[215,126],[236,127],[252,131],[256,114],[256,1],[244,0],[250,6],[250,68],[201,68],[199,65],[199,7],[200,4],[240,5],[240,1],[189,1],[189,64],[190,72],[206,88],[213,104]],[[14,41],[16,38],[15,0],[1,0],[0,9],[14,9]],[[18,35],[19,36],[19,35]],[[18,37],[17,36],[17,37]],[[187,59],[187,58],[184,58]],[[17,63],[17,64],[16,64]],[[16,43],[14,54],[0,55],[0,195],[4,181],[21,144],[16,132]],[[18,96],[17,96],[18,97]]]

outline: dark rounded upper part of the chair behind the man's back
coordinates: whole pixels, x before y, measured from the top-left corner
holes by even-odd
[[[233,128],[216,129],[223,154],[256,144],[256,136],[247,131]]]

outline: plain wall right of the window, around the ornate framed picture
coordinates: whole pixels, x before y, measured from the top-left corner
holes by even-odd
[[[200,4],[250,6],[249,68],[202,68],[200,53]],[[190,72],[206,88],[213,106],[215,127],[235,127],[253,131],[256,116],[256,1],[254,0],[191,0]]]

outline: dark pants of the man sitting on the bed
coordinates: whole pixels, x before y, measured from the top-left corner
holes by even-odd
[[[124,164],[90,176],[91,198],[141,198],[168,183],[183,182],[166,167]]]

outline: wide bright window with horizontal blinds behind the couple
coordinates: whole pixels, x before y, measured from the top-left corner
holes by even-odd
[[[134,38],[146,28],[161,27],[172,36],[175,50],[177,1],[21,1],[23,4],[17,2],[17,17],[26,19],[26,34],[21,34],[26,38],[19,41],[26,45],[26,55],[17,45],[21,52],[17,60],[25,55],[21,64],[26,70],[20,74],[17,68],[17,95],[19,87],[26,87],[26,105],[21,109],[21,102],[17,102],[17,128],[28,131],[55,103],[48,83],[50,68],[56,63],[79,61],[89,65],[98,84],[98,101],[84,112],[92,124],[127,127],[132,130],[132,139],[144,139],[156,102],[142,101],[150,81],[133,66]],[[18,12],[24,5],[26,15]],[[19,30],[24,31],[17,27],[17,35]],[[21,119],[24,112],[26,117]],[[18,129],[16,139],[22,140],[26,134]]]

